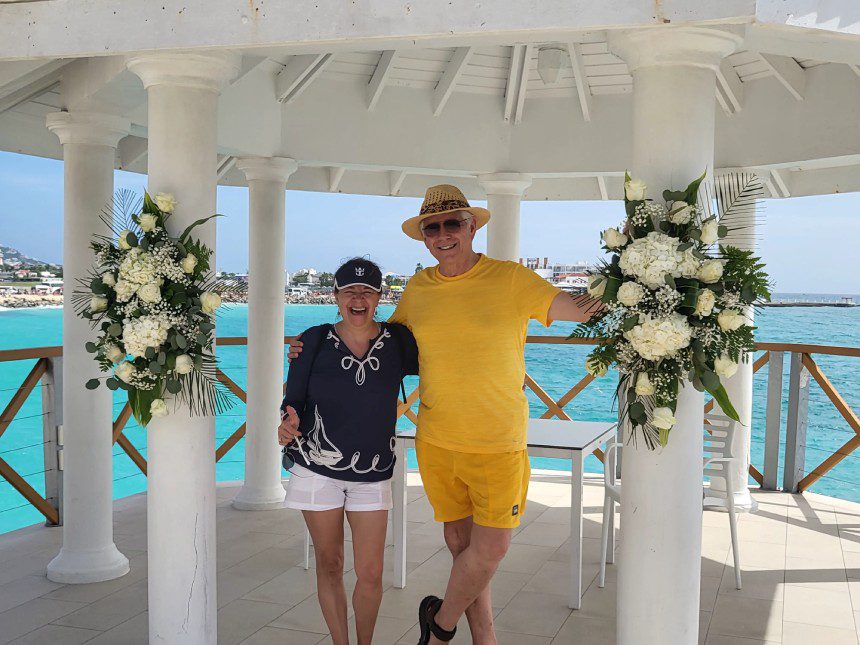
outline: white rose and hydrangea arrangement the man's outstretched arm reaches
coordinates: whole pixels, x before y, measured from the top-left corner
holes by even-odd
[[[602,376],[617,366],[621,418],[630,420],[634,437],[641,430],[651,449],[668,442],[682,380],[709,392],[738,420],[721,379],[755,349],[744,311],[770,298],[761,260],[719,244],[735,230],[733,223],[740,228],[755,216],[760,180],[720,177],[712,199],[701,186],[704,177],[683,191],[663,191],[659,202],[646,197],[643,182],[625,175],[627,217],[623,226],[602,233],[611,257],[589,276],[582,297],[596,306],[572,334],[598,339],[586,360],[590,374]]]

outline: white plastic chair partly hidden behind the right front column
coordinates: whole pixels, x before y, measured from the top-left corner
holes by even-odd
[[[729,464],[735,457],[732,455],[732,440],[737,422],[718,414],[705,415],[703,475],[712,481],[714,477],[723,479],[725,490],[714,490],[709,487],[707,494],[703,488],[702,502],[707,499],[708,507],[722,506],[729,512],[729,529],[732,535],[732,556],[735,563],[735,586],[741,588],[741,563],[738,551],[738,520],[735,512],[734,489],[731,477],[727,476]],[[618,452],[621,443],[612,438],[606,442],[603,466],[603,527],[600,539],[600,578],[598,586],[606,583],[606,564],[615,561],[615,504],[621,503],[621,482],[616,475]],[[612,548],[609,547],[609,536],[612,533]]]

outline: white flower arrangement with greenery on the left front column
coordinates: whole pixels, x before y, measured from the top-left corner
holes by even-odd
[[[105,385],[128,392],[132,414],[144,427],[169,413],[165,399],[199,415],[233,404],[216,378],[212,332],[221,296],[210,273],[212,250],[190,237],[216,216],[174,238],[166,224],[175,207],[169,194],[144,193],[141,200],[119,191],[102,217],[111,235],[95,236],[96,264],[73,295],[76,313],[100,330],[86,349],[102,371],[112,372]],[[86,387],[95,389],[101,380]]]

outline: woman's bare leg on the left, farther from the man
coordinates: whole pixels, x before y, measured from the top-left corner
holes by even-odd
[[[343,508],[302,511],[314,541],[317,596],[333,645],[349,645],[343,588]]]

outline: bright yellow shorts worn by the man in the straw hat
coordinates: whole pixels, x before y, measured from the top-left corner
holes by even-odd
[[[514,528],[526,508],[528,452],[471,453],[415,442],[418,468],[437,522]]]

